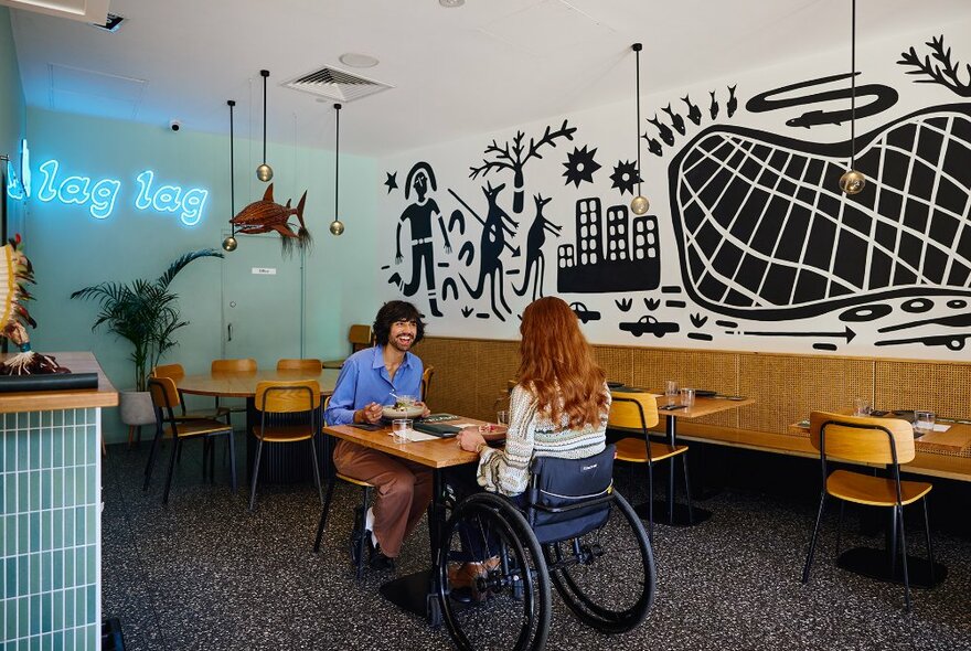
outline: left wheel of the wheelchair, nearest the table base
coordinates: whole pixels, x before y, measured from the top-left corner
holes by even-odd
[[[442,617],[459,649],[543,648],[549,577],[526,520],[505,499],[477,493],[456,506],[444,529],[436,572]]]

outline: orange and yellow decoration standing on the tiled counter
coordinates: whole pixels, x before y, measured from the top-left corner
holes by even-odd
[[[26,327],[36,328],[26,309],[33,297],[26,290],[34,282],[33,267],[21,250],[20,234],[0,248],[0,337],[6,337],[20,348],[20,352],[0,363],[0,375],[38,375],[70,373],[54,357],[36,353],[30,348]]]

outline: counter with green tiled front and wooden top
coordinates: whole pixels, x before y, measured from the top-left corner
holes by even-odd
[[[0,393],[0,540],[8,645],[102,648],[102,408],[92,353],[47,353],[97,388]],[[4,355],[10,357],[12,355]]]

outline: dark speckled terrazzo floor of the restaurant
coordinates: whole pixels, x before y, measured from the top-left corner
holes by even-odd
[[[311,485],[263,487],[250,514],[243,484],[231,493],[227,469],[217,468],[217,483],[202,482],[198,445],[183,453],[168,508],[161,473],[141,491],[148,446],[109,448],[103,602],[106,616],[120,619],[126,649],[451,648],[445,629],[430,629],[377,594],[390,574],[369,572],[354,581],[346,541],[356,488],[339,485],[326,553],[318,556],[311,546],[320,504]],[[241,456],[244,447],[241,439]],[[933,590],[915,590],[906,613],[900,587],[835,567],[834,536],[826,535],[832,519],[811,580],[800,583],[813,504],[727,490],[703,505],[714,516],[700,526],[655,527],[658,595],[639,628],[601,636],[554,594],[547,649],[971,649],[967,537],[936,533],[948,578]],[[881,544],[858,534],[847,515],[844,548]],[[908,529],[911,552],[922,555],[919,533]],[[419,527],[397,572],[428,563],[427,529]]]

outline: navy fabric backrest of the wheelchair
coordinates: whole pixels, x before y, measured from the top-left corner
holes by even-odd
[[[613,493],[615,447],[585,459],[537,457],[526,519],[540,543],[581,536],[607,522]]]

